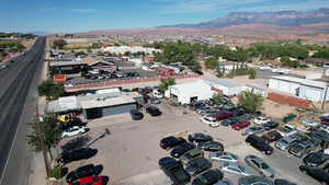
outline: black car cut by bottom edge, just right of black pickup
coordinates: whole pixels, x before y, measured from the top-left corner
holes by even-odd
[[[223,173],[217,170],[208,170],[194,178],[192,185],[213,185],[217,183],[219,180],[223,180]]]

